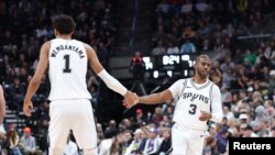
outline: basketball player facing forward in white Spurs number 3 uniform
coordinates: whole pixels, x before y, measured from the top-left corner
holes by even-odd
[[[201,155],[207,121],[221,122],[221,93],[208,79],[211,60],[199,55],[194,65],[195,76],[179,79],[168,89],[148,96],[136,97],[134,103],[155,104],[177,99],[172,128],[173,155]],[[131,108],[133,104],[124,101]]]

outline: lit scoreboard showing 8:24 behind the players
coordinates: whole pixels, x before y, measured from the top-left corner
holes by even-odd
[[[194,73],[193,66],[196,54],[170,54],[160,56],[144,56],[145,77],[164,78],[164,77],[189,77]]]

